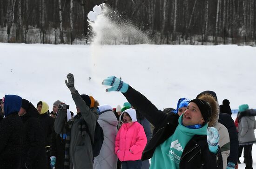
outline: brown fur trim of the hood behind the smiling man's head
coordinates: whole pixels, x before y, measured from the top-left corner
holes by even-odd
[[[209,93],[204,93],[198,97],[198,99],[204,100],[208,102],[212,108],[212,114],[210,120],[208,122],[208,126],[212,127],[218,122],[219,115],[220,115],[220,107],[214,96]]]

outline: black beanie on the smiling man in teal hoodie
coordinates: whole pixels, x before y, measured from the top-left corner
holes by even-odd
[[[212,109],[211,109],[210,104],[207,103],[206,101],[200,100],[198,98],[195,98],[195,99],[191,100],[190,102],[193,102],[198,106],[199,110],[201,111],[202,117],[204,119],[204,123],[209,122],[211,114],[212,114]]]

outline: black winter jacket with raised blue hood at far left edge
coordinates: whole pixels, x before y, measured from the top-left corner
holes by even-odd
[[[17,169],[20,165],[24,125],[18,115],[21,97],[5,95],[4,114],[0,123],[0,169]]]

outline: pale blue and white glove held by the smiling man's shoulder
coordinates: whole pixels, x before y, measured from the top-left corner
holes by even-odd
[[[219,138],[220,138],[220,135],[216,128],[214,127],[207,128],[207,143],[208,143],[210,152],[215,154],[217,153],[219,148]]]

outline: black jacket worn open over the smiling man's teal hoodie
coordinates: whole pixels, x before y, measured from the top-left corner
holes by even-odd
[[[168,115],[158,110],[145,96],[131,86],[123,93],[128,102],[155,126],[153,136],[142,153],[142,160],[153,156],[155,148],[167,140],[178,125],[178,114]],[[207,136],[195,135],[183,150],[180,169],[222,169],[221,151],[216,154],[209,151]]]

